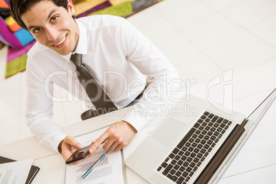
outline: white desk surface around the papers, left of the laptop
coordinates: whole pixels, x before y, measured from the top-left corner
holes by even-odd
[[[67,135],[82,135],[89,133],[92,130],[97,130],[104,126],[121,121],[124,115],[126,115],[126,111],[124,111],[124,109],[119,110],[118,114],[119,115],[116,116],[109,115],[108,117],[106,117],[106,115],[102,115],[100,117],[87,119],[77,124],[65,126],[61,129]],[[139,135],[143,135],[147,133],[147,130],[155,128],[156,126],[154,126],[154,124],[156,123],[154,122],[147,126],[148,128],[145,128],[141,134],[139,133]],[[135,145],[137,145],[137,142],[140,142],[139,140],[135,137],[131,145],[129,145],[128,148],[125,148],[125,159],[126,155],[129,155],[131,150],[136,147]],[[33,183],[65,183],[65,161],[60,154],[51,151],[38,143],[38,139],[36,139],[36,137],[28,137],[26,139],[0,146],[0,155],[14,160],[33,158],[33,165],[41,168],[34,178]],[[126,168],[126,173],[128,176],[128,183],[147,183],[128,168]]]

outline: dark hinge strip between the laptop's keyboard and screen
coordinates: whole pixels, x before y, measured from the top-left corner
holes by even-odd
[[[241,125],[236,125],[233,129],[231,135],[225,140],[218,152],[211,159],[208,165],[205,167],[203,172],[198,176],[198,179],[194,183],[202,184],[208,183],[211,177],[215,174],[216,170],[220,167],[220,164],[227,157],[227,154],[235,146],[235,143],[240,139],[242,133],[244,133],[244,127]]]

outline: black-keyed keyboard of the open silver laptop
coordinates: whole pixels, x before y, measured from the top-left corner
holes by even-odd
[[[187,183],[231,123],[205,111],[157,170],[177,184]]]

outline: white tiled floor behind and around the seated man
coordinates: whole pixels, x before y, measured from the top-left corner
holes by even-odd
[[[184,82],[196,80],[196,95],[206,97],[207,84],[231,69],[233,109],[249,115],[276,86],[275,0],[165,0],[128,21],[163,51]],[[4,79],[6,52],[6,47],[0,50],[0,145],[31,136],[24,117],[25,72]],[[62,97],[66,91],[56,87],[55,93]],[[54,120],[59,126],[79,122],[80,106],[56,102]],[[276,183],[276,160],[268,159],[276,155],[275,109],[235,159],[239,167],[229,168],[222,183]]]

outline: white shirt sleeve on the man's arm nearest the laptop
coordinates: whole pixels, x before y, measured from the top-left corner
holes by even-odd
[[[132,111],[124,118],[137,131],[167,111],[176,101],[174,91],[180,89],[177,70],[152,42],[143,36],[139,30],[122,20],[117,40],[121,43],[126,58],[131,62],[150,83],[143,97],[137,102]]]

